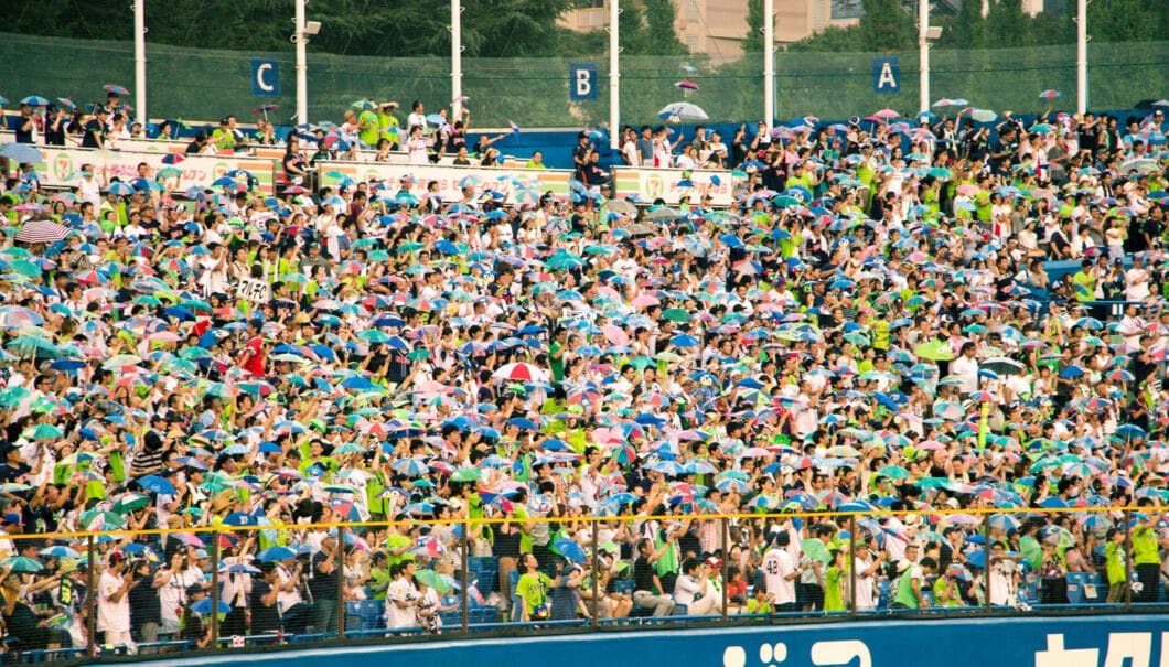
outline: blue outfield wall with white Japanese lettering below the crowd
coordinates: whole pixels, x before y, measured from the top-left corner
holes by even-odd
[[[1125,658],[1129,660],[1126,662]],[[1169,614],[887,620],[320,648],[140,665],[250,667],[1157,667]]]

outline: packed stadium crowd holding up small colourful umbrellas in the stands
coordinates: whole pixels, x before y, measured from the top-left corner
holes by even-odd
[[[132,136],[116,102],[63,132]],[[221,637],[336,632],[339,596],[437,632],[464,543],[475,604],[537,623],[1163,600],[1162,106],[622,131],[629,165],[728,169],[719,210],[609,199],[590,133],[523,204],[312,187],[339,150],[493,159],[362,106],[193,141],[283,144],[271,196],[5,183],[8,651],[207,646],[213,547]],[[16,141],[62,117],[22,105]],[[16,537],[155,528],[95,572],[85,539]]]

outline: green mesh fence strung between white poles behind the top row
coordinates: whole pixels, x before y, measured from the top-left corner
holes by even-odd
[[[291,47],[290,47],[291,49]],[[776,55],[776,110],[781,119],[807,114],[825,119],[865,116],[881,107],[912,112],[918,106],[918,54],[900,58],[900,92],[873,92],[873,54],[781,53]],[[251,58],[279,63],[281,96],[251,96]],[[1169,41],[1091,44],[1090,106],[1129,109],[1137,100],[1163,97],[1169,89]],[[595,63],[596,100],[569,102],[570,63]],[[687,69],[697,67],[698,71]],[[756,120],[763,114],[762,56],[712,65],[699,58],[629,56],[622,58],[622,123],[660,121],[657,112],[672,102],[704,109],[712,121]],[[1064,92],[1057,110],[1075,105],[1075,44],[1033,49],[942,50],[931,55],[934,98],[961,97],[974,106],[1028,112],[1045,105],[1040,90]],[[9,99],[27,95],[97,99],[101,85],[133,82],[133,44],[0,34],[0,71]],[[421,99],[428,110],[450,105],[450,60],[309,55],[309,116],[337,120],[354,100]],[[464,58],[463,91],[471,99],[473,124],[504,127],[580,127],[602,125],[609,116],[608,57]],[[675,86],[689,79],[697,91]],[[278,54],[222,51],[147,44],[147,95],[151,117],[214,119],[244,117],[275,103],[277,123],[296,109],[296,70],[291,50]]]

